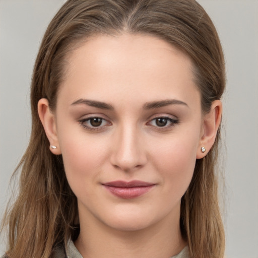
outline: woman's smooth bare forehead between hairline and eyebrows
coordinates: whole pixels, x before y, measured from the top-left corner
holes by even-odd
[[[148,35],[96,36],[72,52],[60,95],[105,102],[184,98],[198,90],[182,51]],[[65,94],[64,94],[65,93]]]

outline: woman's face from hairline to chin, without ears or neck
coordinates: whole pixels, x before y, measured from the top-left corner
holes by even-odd
[[[202,136],[190,59],[155,37],[121,35],[91,38],[69,60],[55,125],[80,220],[179,223]]]

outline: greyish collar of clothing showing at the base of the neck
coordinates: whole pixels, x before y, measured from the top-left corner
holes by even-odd
[[[74,242],[72,240],[69,240],[67,243],[67,250],[64,251],[63,246],[59,246],[55,250],[55,258],[83,258],[81,253],[77,250],[77,248],[74,245]],[[188,246],[185,246],[181,252],[178,254],[170,257],[170,258],[188,258]]]

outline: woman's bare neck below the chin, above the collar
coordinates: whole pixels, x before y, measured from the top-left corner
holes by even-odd
[[[80,219],[80,226],[75,245],[84,258],[171,257],[186,245],[180,232],[179,217],[176,221],[168,217],[139,230],[117,230],[89,218]]]

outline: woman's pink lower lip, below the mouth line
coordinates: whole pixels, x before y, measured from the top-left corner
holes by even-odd
[[[107,190],[109,190],[114,196],[123,199],[133,199],[140,197],[150,191],[155,185],[147,185],[147,186],[137,186],[137,187],[114,187],[104,185]]]

